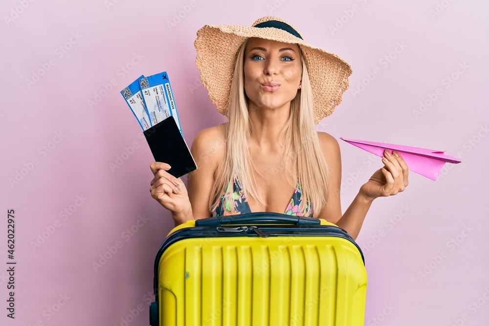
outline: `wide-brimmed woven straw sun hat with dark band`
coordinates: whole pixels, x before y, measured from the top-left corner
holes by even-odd
[[[251,27],[205,25],[197,31],[196,65],[202,84],[219,112],[227,116],[236,54],[244,40],[251,37],[298,44],[309,72],[314,122],[317,124],[333,113],[348,88],[350,65],[336,54],[307,43],[292,24],[273,16],[260,18]]]

